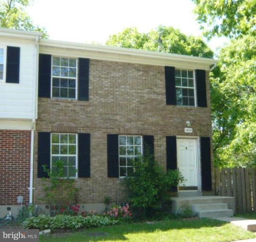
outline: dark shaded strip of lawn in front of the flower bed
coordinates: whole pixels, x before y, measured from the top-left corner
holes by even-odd
[[[131,223],[124,225],[90,228],[74,231],[71,233],[53,234],[42,238],[40,237],[40,242],[125,241],[128,240],[125,235],[129,233],[154,233],[165,232],[168,230],[200,229],[206,227],[220,227],[225,224],[227,223],[207,218],[195,220],[178,219],[158,221],[155,222],[155,224]]]

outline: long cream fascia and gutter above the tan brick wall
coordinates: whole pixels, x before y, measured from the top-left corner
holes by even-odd
[[[121,47],[110,47],[86,43],[63,42],[41,39],[40,53],[53,55],[84,57],[104,61],[121,61],[157,66],[175,66],[178,68],[201,68],[210,70],[217,60],[179,54],[150,52]]]

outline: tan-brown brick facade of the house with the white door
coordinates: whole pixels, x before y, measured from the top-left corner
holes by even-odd
[[[122,201],[118,178],[107,177],[107,134],[154,135],[155,157],[166,167],[166,136],[212,136],[209,72],[207,107],[166,105],[165,70],[114,61],[90,60],[89,101],[38,99],[35,132],[34,201],[40,203],[42,179],[37,178],[37,133],[91,134],[91,177],[79,178],[79,203]],[[185,122],[194,132],[185,134]]]

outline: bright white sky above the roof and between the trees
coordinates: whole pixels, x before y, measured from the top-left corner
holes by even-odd
[[[36,25],[45,27],[49,39],[105,44],[126,27],[148,32],[173,26],[202,36],[194,7],[192,0],[34,0],[26,10]],[[227,41],[214,37],[208,45],[216,51]]]

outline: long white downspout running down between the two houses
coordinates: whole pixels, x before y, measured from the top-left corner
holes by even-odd
[[[31,146],[30,146],[30,179],[29,179],[29,204],[33,203],[33,179],[34,179],[34,134],[35,134],[35,120],[37,118],[37,69],[38,69],[38,47],[39,36],[35,38],[35,57],[34,70],[35,82],[33,85],[33,105],[32,105],[32,127],[31,127]]]

